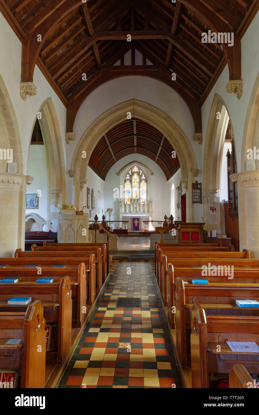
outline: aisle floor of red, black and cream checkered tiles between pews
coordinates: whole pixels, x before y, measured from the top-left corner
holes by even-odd
[[[59,388],[182,387],[153,272],[154,261],[110,264],[105,294]],[[141,298],[142,308],[116,308],[119,296]]]

